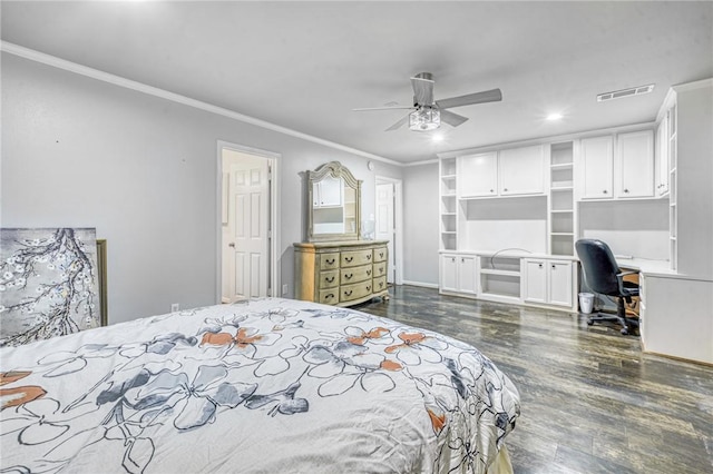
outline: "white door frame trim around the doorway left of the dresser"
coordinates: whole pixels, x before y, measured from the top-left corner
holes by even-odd
[[[216,228],[216,251],[215,251],[215,302],[221,304],[223,299],[223,150],[229,149],[233,151],[240,151],[247,155],[254,155],[261,158],[267,159],[270,167],[270,279],[267,282],[267,295],[277,296],[281,294],[279,290],[280,282],[282,280],[280,275],[280,258],[279,258],[279,245],[280,245],[280,154],[272,151],[261,150],[258,148],[246,147],[244,145],[237,145],[229,141],[217,141],[217,172],[216,172],[216,211],[215,211],[215,228]]]

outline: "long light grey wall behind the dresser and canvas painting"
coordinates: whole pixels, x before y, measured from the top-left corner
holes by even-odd
[[[282,283],[293,295],[306,169],[363,179],[401,168],[2,53],[0,225],[96,227],[107,239],[109,320],[216,303],[217,141],[280,154]],[[429,216],[436,216],[430,210]],[[434,218],[434,217],[433,217]]]

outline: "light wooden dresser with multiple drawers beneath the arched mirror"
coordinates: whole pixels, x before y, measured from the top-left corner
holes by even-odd
[[[389,299],[388,240],[294,244],[295,298],[351,306],[375,296]]]

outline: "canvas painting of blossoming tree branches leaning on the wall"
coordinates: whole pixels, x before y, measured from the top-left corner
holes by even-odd
[[[100,326],[94,228],[0,229],[0,346]]]

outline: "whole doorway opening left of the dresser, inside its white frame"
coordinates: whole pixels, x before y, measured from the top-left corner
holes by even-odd
[[[276,282],[276,157],[218,145],[218,300],[272,296]]]

